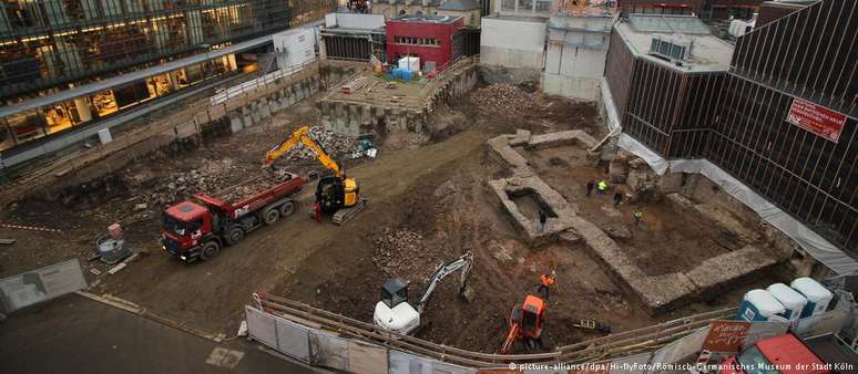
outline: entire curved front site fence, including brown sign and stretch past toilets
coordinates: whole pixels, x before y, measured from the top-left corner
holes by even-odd
[[[697,363],[718,363],[742,347],[790,330],[786,320],[727,321],[736,310],[725,309],[560,346],[554,352],[500,355],[388,332],[278,297],[259,293],[254,300],[256,305],[245,307],[251,337],[307,364],[353,373],[687,371],[695,357]],[[842,300],[835,310],[804,319],[791,330],[801,337],[837,333],[854,304],[851,298]]]

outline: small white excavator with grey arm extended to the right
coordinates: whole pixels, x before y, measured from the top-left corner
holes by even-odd
[[[412,334],[420,326],[420,314],[423,312],[423,308],[432,297],[438,283],[456,270],[461,270],[461,277],[459,279],[459,293],[468,294],[470,290],[467,289],[466,281],[468,280],[468,273],[471,271],[473,264],[473,253],[467,252],[456,260],[447,263],[441,263],[438,269],[435,270],[435,274],[429,279],[429,283],[426,284],[426,290],[417,301],[415,305],[408,302],[408,282],[401,278],[395,278],[385,283],[381,287],[381,301],[376,303],[375,313],[372,313],[372,322],[385,330],[398,332],[400,334]]]

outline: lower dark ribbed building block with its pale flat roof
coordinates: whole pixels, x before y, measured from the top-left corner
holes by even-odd
[[[664,157],[702,157],[733,46],[692,15],[632,14],[611,38],[605,75],[624,132]]]

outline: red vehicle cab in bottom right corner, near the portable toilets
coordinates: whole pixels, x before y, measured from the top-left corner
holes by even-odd
[[[831,373],[831,366],[794,334],[760,340],[729,357],[722,367],[719,374]]]

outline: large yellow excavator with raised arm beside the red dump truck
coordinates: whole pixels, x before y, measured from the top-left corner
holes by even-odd
[[[334,224],[343,225],[354,218],[366,207],[368,200],[360,197],[357,181],[346,177],[339,164],[309,135],[309,126],[296,129],[288,138],[268,150],[263,167],[270,167],[298,144],[315,153],[319,163],[331,172],[331,175],[319,178],[319,184],[316,185],[316,204],[313,207],[316,219],[319,219],[321,214],[330,214]]]

